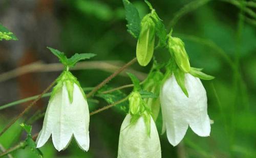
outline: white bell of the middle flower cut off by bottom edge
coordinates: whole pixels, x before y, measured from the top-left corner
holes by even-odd
[[[126,115],[120,129],[118,158],[160,158],[161,146],[155,122],[150,117],[150,136],[143,116],[131,123],[132,116]]]

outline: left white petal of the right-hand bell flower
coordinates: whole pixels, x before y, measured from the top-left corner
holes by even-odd
[[[168,141],[173,146],[180,143],[188,128],[184,96],[174,76],[164,83],[160,94],[163,122]]]

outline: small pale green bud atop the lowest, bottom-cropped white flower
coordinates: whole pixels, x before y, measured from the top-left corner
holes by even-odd
[[[132,92],[132,94],[129,97],[129,103],[130,103],[130,112],[133,115],[136,115],[140,112],[140,109],[142,105],[142,98],[139,92],[135,91]]]

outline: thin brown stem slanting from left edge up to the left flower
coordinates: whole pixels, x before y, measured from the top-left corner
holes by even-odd
[[[35,103],[42,97],[42,95],[44,95],[46,92],[48,92],[52,87],[53,85],[55,84],[56,80],[54,82],[52,82],[50,84],[50,86],[48,86],[40,95],[38,95],[38,97],[29,104],[29,106],[27,106],[27,108],[22,112],[20,113],[18,116],[16,116],[9,124],[7,124],[7,126],[1,131],[0,133],[0,137],[5,133],[5,131],[7,129],[10,128],[10,126],[15,123],[20,117],[22,117],[31,107],[33,107],[35,105]]]

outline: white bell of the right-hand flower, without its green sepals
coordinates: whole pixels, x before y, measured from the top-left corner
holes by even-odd
[[[183,139],[188,125],[201,137],[210,135],[207,96],[200,79],[186,73],[185,87],[188,97],[172,75],[165,81],[160,92],[163,126],[166,128],[168,141],[173,146]]]

